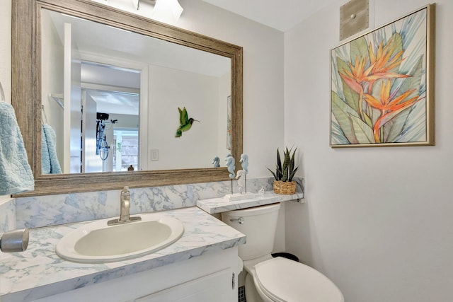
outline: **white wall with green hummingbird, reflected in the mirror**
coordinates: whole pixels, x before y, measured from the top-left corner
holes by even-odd
[[[159,161],[149,161],[148,168],[210,167],[217,155],[219,79],[149,66],[148,95],[148,147],[159,150]],[[176,138],[178,108],[200,122],[193,122],[189,131]]]

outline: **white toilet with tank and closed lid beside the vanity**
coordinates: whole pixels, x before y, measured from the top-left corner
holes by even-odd
[[[247,302],[344,302],[343,294],[321,272],[283,257],[273,258],[280,204],[222,213],[222,221],[245,234],[239,246],[246,269]]]

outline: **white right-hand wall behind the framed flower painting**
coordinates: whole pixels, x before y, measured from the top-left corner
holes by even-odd
[[[331,149],[329,50],[343,3],[285,33],[285,143],[302,152],[307,188],[307,204],[287,205],[287,250],[348,302],[453,301],[453,2],[436,2],[436,146]],[[376,0],[371,13],[377,27],[426,4]]]

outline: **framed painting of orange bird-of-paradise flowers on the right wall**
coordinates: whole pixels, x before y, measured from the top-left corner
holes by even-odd
[[[331,50],[331,147],[435,144],[435,5]]]

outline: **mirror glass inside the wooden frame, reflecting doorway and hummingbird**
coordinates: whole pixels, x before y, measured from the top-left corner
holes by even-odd
[[[40,16],[43,131],[55,132],[56,155],[42,173],[211,168],[230,152],[229,57],[45,8]],[[200,121],[184,135],[178,108]]]

